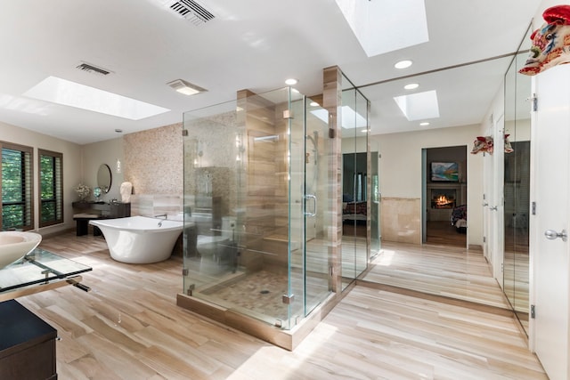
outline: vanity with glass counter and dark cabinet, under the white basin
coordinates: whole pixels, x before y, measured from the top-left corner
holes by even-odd
[[[78,276],[85,271],[92,268],[41,248],[0,269],[0,379],[57,379],[57,330],[15,298],[68,285],[89,290]]]

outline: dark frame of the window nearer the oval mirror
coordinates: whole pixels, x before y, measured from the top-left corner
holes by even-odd
[[[53,158],[53,178],[52,178],[52,198],[44,199],[42,198],[42,188],[43,188],[43,171],[42,171],[42,158],[49,157]],[[57,161],[59,160],[59,166]],[[38,201],[38,219],[39,227],[47,227],[54,224],[61,224],[63,222],[63,154],[60,152],[55,152],[53,150],[43,150],[37,149],[37,201]],[[44,220],[43,211],[44,204],[53,204],[53,210],[55,217],[53,219]]]

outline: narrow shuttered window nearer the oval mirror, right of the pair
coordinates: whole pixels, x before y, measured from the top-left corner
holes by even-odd
[[[63,155],[37,150],[39,156],[39,226],[63,222]]]

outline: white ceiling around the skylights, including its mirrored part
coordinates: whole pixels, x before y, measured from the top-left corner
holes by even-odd
[[[363,1],[363,0],[362,0]],[[379,1],[379,0],[371,0]],[[322,93],[322,69],[337,65],[371,101],[371,133],[419,129],[393,97],[436,90],[441,117],[430,128],[477,124],[485,117],[509,58],[539,0],[428,0],[429,42],[368,58],[334,0],[201,0],[214,20],[195,26],[160,0],[18,0],[0,4],[0,121],[85,144],[182,121],[183,112],[235,99],[236,91],[284,86]],[[542,20],[537,21],[538,24]],[[402,25],[402,29],[413,29]],[[388,32],[388,31],[387,31]],[[397,70],[395,61],[414,61]],[[85,61],[112,74],[76,69]],[[413,79],[396,79],[436,70]],[[24,97],[54,76],[171,111],[139,121]],[[208,89],[187,97],[166,84],[182,78]]]

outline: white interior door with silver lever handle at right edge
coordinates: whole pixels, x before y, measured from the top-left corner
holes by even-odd
[[[570,65],[533,78],[538,110],[531,140],[531,325],[534,352],[552,380],[570,379],[568,350],[569,241],[556,233],[570,230]],[[545,236],[550,231],[550,238]]]

